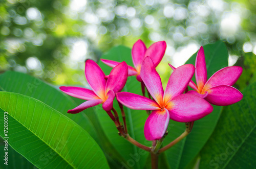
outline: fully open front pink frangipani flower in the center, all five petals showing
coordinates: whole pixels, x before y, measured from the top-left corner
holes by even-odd
[[[212,106],[204,99],[195,94],[182,94],[194,72],[192,64],[178,67],[170,75],[164,91],[153,60],[146,57],[141,67],[141,79],[154,101],[134,93],[116,93],[117,100],[126,107],[154,110],[146,119],[144,127],[147,140],[160,139],[167,129],[169,118],[177,122],[193,122],[212,112]]]

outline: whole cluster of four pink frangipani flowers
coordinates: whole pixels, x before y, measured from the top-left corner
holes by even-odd
[[[85,75],[92,90],[60,87],[60,90],[75,98],[87,100],[69,110],[68,113],[79,113],[99,104],[102,104],[102,108],[109,113],[116,97],[119,103],[131,109],[152,110],[145,122],[144,135],[147,140],[158,140],[166,132],[169,119],[185,123],[194,122],[212,112],[211,104],[227,106],[243,98],[242,93],[232,87],[241,76],[242,67],[222,68],[207,80],[203,47],[197,54],[195,67],[192,64],[185,64],[175,68],[169,64],[174,71],[163,90],[155,67],[162,60],[165,49],[165,41],[156,42],[146,49],[145,44],[138,40],[132,49],[135,68],[125,62],[101,59],[103,63],[114,67],[109,76],[105,76],[93,60],[87,60]],[[191,81],[194,73],[197,85]],[[130,92],[121,92],[128,76],[136,76],[153,99]],[[184,93],[187,86],[194,90]],[[110,114],[110,116],[113,119],[113,115]]]

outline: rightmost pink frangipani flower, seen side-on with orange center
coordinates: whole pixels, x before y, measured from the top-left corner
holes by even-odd
[[[170,65],[170,64],[169,64]],[[172,65],[170,65],[173,69]],[[196,94],[204,98],[210,104],[217,106],[228,106],[239,102],[243,94],[232,87],[241,76],[243,68],[240,66],[224,67],[218,70],[207,81],[207,70],[203,46],[200,47],[196,58],[196,82],[188,84],[194,90],[187,93]]]

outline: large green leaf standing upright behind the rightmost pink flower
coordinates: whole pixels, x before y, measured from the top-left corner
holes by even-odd
[[[205,61],[208,78],[219,69],[228,65],[228,53],[223,42],[204,45]],[[189,58],[186,64],[194,64],[196,54]],[[195,77],[193,78],[194,82]],[[192,132],[166,151],[167,159],[172,168],[185,168],[196,158],[204,144],[214,131],[218,122],[222,107],[214,106],[214,111],[204,118],[197,120]],[[177,138],[185,130],[184,123],[170,121],[168,126],[169,134],[164,140],[164,145]]]

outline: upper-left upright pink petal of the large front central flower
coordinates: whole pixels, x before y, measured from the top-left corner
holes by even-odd
[[[146,57],[141,66],[141,79],[147,90],[151,93],[155,101],[161,105],[163,102],[163,86],[159,74],[151,57]]]

